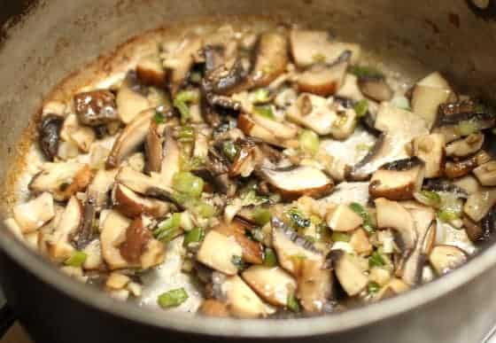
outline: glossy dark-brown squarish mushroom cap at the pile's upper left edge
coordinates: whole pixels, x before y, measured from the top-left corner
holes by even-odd
[[[83,125],[100,126],[118,120],[112,92],[93,90],[74,96],[74,111]]]

